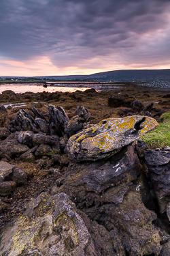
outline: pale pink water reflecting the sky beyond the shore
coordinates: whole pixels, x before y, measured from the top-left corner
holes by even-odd
[[[12,90],[15,93],[23,93],[26,91],[31,92],[42,92],[42,91],[48,91],[48,92],[55,92],[55,91],[69,91],[73,92],[76,90],[85,91],[86,89],[90,89],[89,87],[53,87],[48,86],[47,88],[44,88],[43,85],[21,85],[21,84],[6,84],[6,85],[0,85],[0,93],[5,90]]]

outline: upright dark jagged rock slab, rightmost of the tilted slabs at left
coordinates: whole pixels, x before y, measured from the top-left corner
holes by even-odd
[[[60,137],[65,133],[65,128],[69,122],[69,117],[61,106],[49,105],[50,113],[50,134],[56,134]]]

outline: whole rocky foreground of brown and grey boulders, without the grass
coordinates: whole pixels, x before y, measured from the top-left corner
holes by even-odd
[[[80,103],[1,106],[0,255],[170,255],[170,148],[141,141],[164,111],[147,103],[107,95],[116,116],[95,125]]]

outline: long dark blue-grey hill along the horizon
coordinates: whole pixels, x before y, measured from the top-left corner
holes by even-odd
[[[15,78],[16,76],[8,76]],[[28,77],[28,76],[27,76]],[[27,78],[25,77],[25,78]],[[5,78],[5,76],[1,76]],[[24,77],[17,76],[18,79]],[[73,76],[33,76],[36,79],[54,79],[61,81],[170,81],[170,70],[115,70],[90,75],[73,75]]]

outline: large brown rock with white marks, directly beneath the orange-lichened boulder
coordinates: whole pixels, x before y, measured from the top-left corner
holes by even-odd
[[[107,160],[70,162],[63,184],[52,192],[67,193],[90,220],[102,223],[114,239],[116,256],[158,255],[161,238],[152,224],[157,216],[136,190],[140,173],[135,146],[129,145]]]

